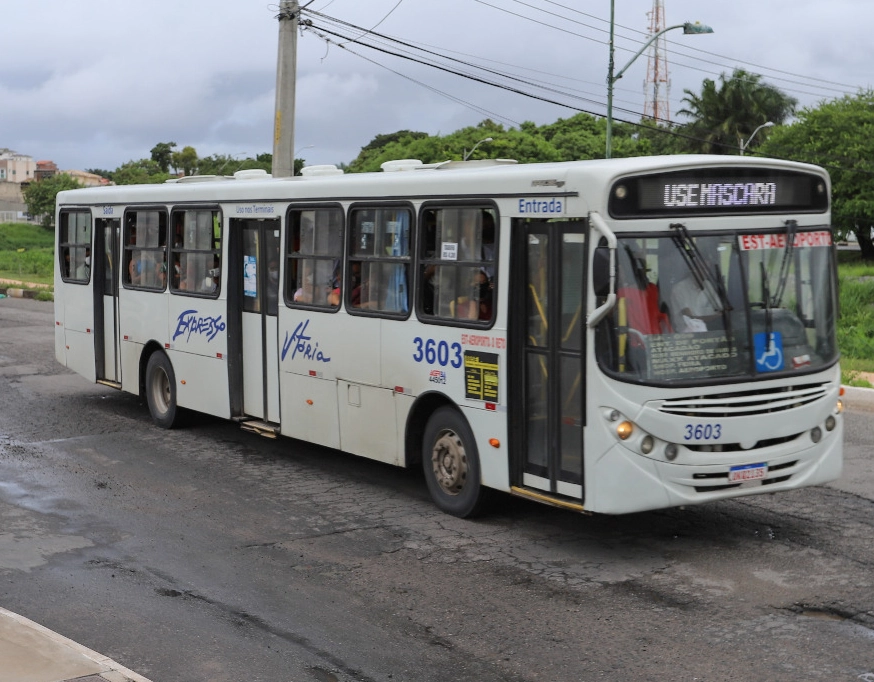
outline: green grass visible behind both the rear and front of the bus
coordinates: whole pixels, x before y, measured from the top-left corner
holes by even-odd
[[[0,279],[53,284],[54,233],[27,223],[0,224]],[[838,251],[841,381],[871,386],[874,374],[874,263],[858,251]],[[49,295],[50,294],[46,294]]]

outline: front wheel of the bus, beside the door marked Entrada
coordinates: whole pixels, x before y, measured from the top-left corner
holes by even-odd
[[[467,420],[452,407],[434,411],[422,439],[422,468],[428,492],[447,514],[476,516],[485,502],[479,453]]]

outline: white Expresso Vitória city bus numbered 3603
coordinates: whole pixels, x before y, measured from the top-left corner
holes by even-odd
[[[833,480],[830,187],[751,157],[418,161],[57,199],[58,361],[262,435],[610,514]]]

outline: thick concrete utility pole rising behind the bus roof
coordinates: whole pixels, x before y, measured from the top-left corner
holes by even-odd
[[[273,177],[294,175],[294,91],[297,78],[297,0],[279,5],[279,52],[276,59],[276,113],[273,119]]]

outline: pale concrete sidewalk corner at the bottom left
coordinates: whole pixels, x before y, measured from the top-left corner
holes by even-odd
[[[0,608],[0,682],[149,682],[96,651]]]

